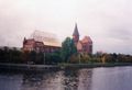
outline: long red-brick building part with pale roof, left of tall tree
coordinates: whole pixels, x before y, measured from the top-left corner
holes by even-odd
[[[61,43],[55,34],[34,31],[30,38],[23,41],[23,50],[35,50],[36,53],[53,53],[61,48]]]

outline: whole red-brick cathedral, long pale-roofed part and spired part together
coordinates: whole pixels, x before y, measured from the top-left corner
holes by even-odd
[[[92,41],[90,36],[85,36],[82,40],[79,40],[79,32],[77,24],[75,25],[73,33],[73,41],[77,47],[78,53],[92,54]],[[55,34],[34,31],[30,38],[24,38],[23,41],[23,50],[35,50],[43,53],[53,53],[61,49],[62,45],[56,38]]]

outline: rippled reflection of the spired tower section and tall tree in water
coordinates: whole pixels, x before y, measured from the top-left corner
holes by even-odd
[[[91,85],[91,69],[68,69],[64,72],[65,90],[89,90]]]

